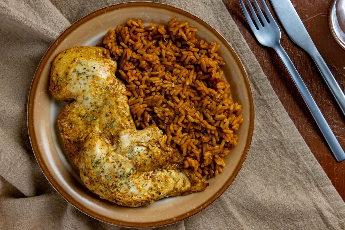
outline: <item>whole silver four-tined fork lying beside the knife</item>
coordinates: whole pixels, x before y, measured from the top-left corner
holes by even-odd
[[[244,16],[247,19],[249,27],[250,29],[252,29],[257,41],[261,43],[263,46],[270,47],[277,52],[279,58],[282,60],[285,68],[289,72],[292,80],[296,84],[299,93],[302,95],[304,102],[307,104],[309,111],[312,113],[312,116],[314,117],[319,129],[325,137],[325,140],[328,143],[328,146],[331,149],[335,159],[339,162],[343,161],[345,159],[344,150],[339,144],[336,137],[334,136],[334,133],[332,132],[326,119],[324,118],[320,109],[315,103],[312,95],[310,94],[308,88],[304,84],[291,59],[289,58],[284,48],[280,44],[280,29],[276,21],[274,20],[272,14],[270,13],[265,1],[260,0],[262,8],[265,11],[266,17],[260,9],[258,2],[256,0],[253,0],[260,19],[256,14],[250,1],[246,1],[254,20],[252,20],[252,18],[250,17],[243,0],[239,0]]]

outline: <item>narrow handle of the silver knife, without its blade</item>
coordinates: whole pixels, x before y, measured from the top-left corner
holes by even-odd
[[[331,70],[329,70],[326,62],[321,57],[320,53],[316,50],[311,54],[311,57],[313,58],[322,77],[326,81],[328,88],[331,90],[335,100],[338,102],[341,110],[345,115],[345,95],[343,90],[340,88],[338,82],[335,80]]]

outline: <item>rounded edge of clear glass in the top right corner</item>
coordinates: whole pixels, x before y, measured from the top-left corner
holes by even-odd
[[[329,16],[334,39],[345,49],[345,0],[335,0]]]

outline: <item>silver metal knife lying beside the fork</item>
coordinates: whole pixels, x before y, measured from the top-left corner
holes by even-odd
[[[304,49],[314,60],[328,88],[331,90],[335,100],[338,102],[345,115],[345,95],[335,80],[332,72],[321,57],[313,40],[299,18],[290,0],[270,0],[280,23],[290,39],[300,48]]]

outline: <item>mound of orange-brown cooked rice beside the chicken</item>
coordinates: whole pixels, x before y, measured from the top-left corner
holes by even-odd
[[[223,171],[224,157],[237,144],[242,106],[229,98],[220,46],[197,39],[196,32],[176,18],[148,27],[128,20],[98,45],[118,61],[137,128],[164,130],[166,144],[183,152],[183,167],[210,178]]]

